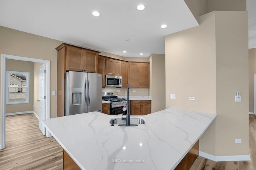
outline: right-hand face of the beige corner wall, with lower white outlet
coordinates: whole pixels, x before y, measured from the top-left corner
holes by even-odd
[[[248,154],[248,14],[216,12],[216,155]],[[234,102],[240,91],[242,102]],[[228,123],[228,126],[227,126]],[[242,139],[237,145],[234,139]],[[234,149],[235,148],[235,149]]]

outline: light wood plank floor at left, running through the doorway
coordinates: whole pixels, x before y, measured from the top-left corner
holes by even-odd
[[[6,116],[6,148],[0,170],[61,170],[63,150],[53,137],[42,135],[33,113]]]

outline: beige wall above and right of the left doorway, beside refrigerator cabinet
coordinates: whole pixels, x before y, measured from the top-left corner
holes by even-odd
[[[62,42],[0,26],[0,54],[50,61],[50,91],[57,88],[57,51]],[[33,98],[33,96],[32,96]],[[36,99],[35,99],[36,100]],[[50,96],[50,117],[57,116],[57,98]],[[33,108],[31,108],[33,110]]]

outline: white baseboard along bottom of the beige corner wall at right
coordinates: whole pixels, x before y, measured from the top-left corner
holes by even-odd
[[[214,156],[202,151],[199,151],[199,156],[213,160],[215,162],[220,161],[240,161],[240,160],[251,160],[250,154],[248,155],[228,155],[228,156]]]

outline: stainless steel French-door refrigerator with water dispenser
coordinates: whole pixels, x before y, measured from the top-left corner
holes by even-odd
[[[102,110],[102,74],[66,72],[66,115]]]

